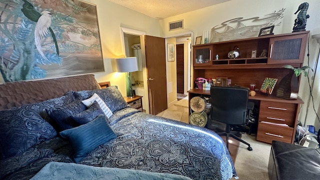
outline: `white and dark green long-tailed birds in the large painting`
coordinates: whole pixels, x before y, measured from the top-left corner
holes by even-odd
[[[56,55],[59,55],[59,48],[56,42],[56,38],[52,28],[50,27],[51,12],[44,10],[41,13],[39,13],[34,9],[33,5],[30,2],[28,2],[27,0],[22,0],[22,1],[24,3],[22,4],[21,11],[25,15],[25,17],[36,22],[35,29],[34,29],[34,41],[35,41],[36,49],[39,52],[39,54],[45,60],[48,60],[42,51],[40,41],[45,37],[46,34],[48,34],[48,31],[50,31],[54,45],[55,45]]]

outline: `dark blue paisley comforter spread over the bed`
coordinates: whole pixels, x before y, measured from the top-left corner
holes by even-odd
[[[124,108],[110,118],[117,137],[79,164],[179,174],[191,179],[230,179],[235,169],[214,132]],[[29,179],[51,161],[73,162],[69,142],[58,136],[0,161],[0,179]]]

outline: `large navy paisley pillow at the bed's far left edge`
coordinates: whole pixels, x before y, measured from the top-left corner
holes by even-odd
[[[0,111],[2,159],[24,152],[56,136],[54,128],[38,114],[37,103]]]

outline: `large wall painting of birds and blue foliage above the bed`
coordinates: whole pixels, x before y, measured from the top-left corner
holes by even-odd
[[[104,71],[96,5],[1,0],[0,13],[0,83]]]

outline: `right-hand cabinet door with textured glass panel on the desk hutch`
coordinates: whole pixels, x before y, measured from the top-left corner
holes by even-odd
[[[270,38],[268,63],[303,63],[307,33]]]

